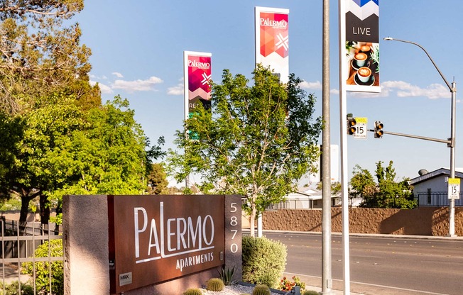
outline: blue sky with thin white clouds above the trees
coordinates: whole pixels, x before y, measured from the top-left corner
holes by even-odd
[[[152,143],[165,136],[173,145],[183,123],[183,51],[212,52],[212,79],[223,69],[251,77],[254,69],[254,7],[289,9],[290,72],[305,80],[322,113],[322,1],[85,1],[75,17],[81,42],[92,49],[91,81],[104,101],[129,99]],[[420,48],[382,38],[410,40],[430,53],[449,82],[463,83],[463,1],[389,0],[379,2],[381,94],[347,94],[347,111],[367,117],[368,128],[447,139],[450,91]],[[338,1],[330,1],[331,142],[339,144]],[[460,92],[461,93],[461,92]],[[457,92],[457,167],[463,167],[462,103]],[[321,138],[320,138],[321,141]],[[376,162],[392,160],[398,178],[419,169],[450,166],[444,143],[384,135],[348,138],[349,176],[358,164],[374,173]]]

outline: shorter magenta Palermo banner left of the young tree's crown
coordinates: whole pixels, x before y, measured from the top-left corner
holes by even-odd
[[[208,52],[183,52],[184,80],[185,80],[185,120],[195,112],[195,108],[211,107],[211,89],[209,81],[212,54]]]

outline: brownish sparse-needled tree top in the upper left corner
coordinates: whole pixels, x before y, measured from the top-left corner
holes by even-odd
[[[80,27],[64,26],[83,7],[83,0],[1,1],[0,110],[27,110],[57,91],[101,104],[98,87],[88,84],[90,50],[80,45]]]

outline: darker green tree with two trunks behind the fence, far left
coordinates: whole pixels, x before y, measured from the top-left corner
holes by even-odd
[[[45,191],[60,187],[64,178],[60,157],[55,157],[73,131],[82,126],[82,114],[72,97],[50,96],[36,101],[25,114],[3,114],[2,130],[10,140],[0,144],[4,173],[0,177],[1,196],[21,198],[20,221],[26,222],[29,202],[40,197],[43,222],[48,221]]]

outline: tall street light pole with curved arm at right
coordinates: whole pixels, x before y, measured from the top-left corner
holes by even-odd
[[[437,72],[439,72],[440,77],[444,79],[445,84],[447,84],[447,87],[450,89],[450,93],[452,94],[452,113],[450,116],[450,143],[447,143],[447,147],[450,147],[450,178],[455,178],[455,116],[456,116],[456,101],[457,101],[457,84],[455,81],[450,84],[447,79],[445,79],[444,74],[440,72],[439,67],[435,64],[434,60],[432,60],[432,57],[427,53],[425,48],[421,46],[418,43],[414,43],[411,41],[406,41],[406,40],[400,40],[400,39],[395,39],[391,37],[386,37],[384,38],[386,41],[398,41],[398,42],[403,42],[403,43],[410,43],[413,45],[418,46],[421,48],[429,57],[429,59],[432,62],[432,65],[434,65],[435,69],[437,69]],[[455,236],[455,200],[450,199],[449,200],[449,236],[454,237]]]

